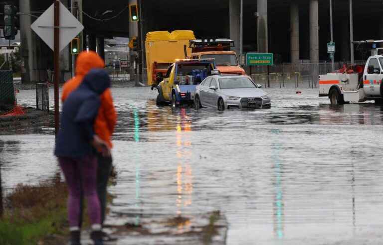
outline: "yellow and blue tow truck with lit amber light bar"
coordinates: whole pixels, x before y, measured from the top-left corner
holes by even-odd
[[[192,104],[195,87],[207,76],[217,74],[214,59],[176,59],[157,86],[156,104],[171,104],[173,108]]]

